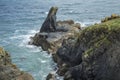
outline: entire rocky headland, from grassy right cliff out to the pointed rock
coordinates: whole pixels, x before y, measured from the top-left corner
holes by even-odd
[[[54,22],[54,32],[40,31],[31,38],[30,44],[54,53],[57,73],[64,80],[120,80],[119,15],[112,14],[100,24],[82,30],[80,24],[72,20]],[[53,74],[49,74],[47,80],[51,78],[55,80]]]

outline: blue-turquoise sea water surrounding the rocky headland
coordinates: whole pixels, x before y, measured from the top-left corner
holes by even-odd
[[[100,22],[112,13],[120,14],[120,0],[0,0],[0,46],[35,80],[45,80],[55,66],[40,47],[27,44],[29,37],[39,31],[51,6],[59,7],[58,20],[73,19],[82,26]]]

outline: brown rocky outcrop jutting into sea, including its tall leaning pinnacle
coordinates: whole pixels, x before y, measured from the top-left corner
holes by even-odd
[[[81,29],[80,24],[75,23],[73,20],[56,21],[56,19],[54,19],[54,22],[49,21],[51,20],[50,16],[56,16],[56,12],[56,7],[50,9],[48,17],[43,23],[40,32],[36,33],[34,37],[31,37],[31,41],[29,42],[29,44],[41,46],[43,50],[53,54],[56,53],[64,39],[75,36]],[[55,27],[55,32],[50,29],[45,29],[47,27]]]

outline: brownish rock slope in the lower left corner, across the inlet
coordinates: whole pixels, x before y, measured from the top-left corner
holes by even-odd
[[[0,47],[0,80],[34,80],[33,77],[20,71],[15,64],[11,62],[10,55]]]

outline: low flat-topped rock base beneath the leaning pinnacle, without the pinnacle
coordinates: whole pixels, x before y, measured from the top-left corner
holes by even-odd
[[[64,39],[75,36],[79,31],[80,25],[78,24],[69,25],[68,23],[62,23],[61,26],[56,27],[56,32],[36,33],[35,36],[31,38],[29,44],[41,46],[45,51],[56,53]]]

